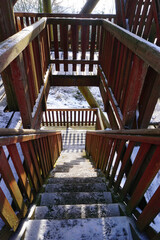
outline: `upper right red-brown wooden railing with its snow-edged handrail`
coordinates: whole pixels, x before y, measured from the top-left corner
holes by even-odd
[[[113,129],[148,127],[159,98],[159,63],[159,47],[103,20],[100,90]]]

